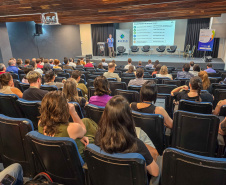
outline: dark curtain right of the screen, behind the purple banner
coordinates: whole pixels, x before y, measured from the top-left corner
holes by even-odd
[[[188,19],[187,23],[187,32],[185,37],[184,48],[190,44],[190,50],[192,46],[195,45],[196,49],[194,52],[194,57],[201,58],[204,55],[204,51],[198,50],[199,43],[199,33],[200,29],[208,29],[209,28],[210,19]],[[214,38],[213,51],[206,52],[206,56],[212,56],[213,58],[217,58],[219,49],[219,38]]]

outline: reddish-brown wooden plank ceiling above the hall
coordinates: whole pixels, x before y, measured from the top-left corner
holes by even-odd
[[[226,0],[0,0],[0,22],[40,23],[48,12],[61,24],[207,18],[226,13]]]

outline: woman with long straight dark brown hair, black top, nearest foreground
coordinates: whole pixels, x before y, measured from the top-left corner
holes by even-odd
[[[129,103],[122,96],[114,96],[106,105],[98,124],[95,144],[107,153],[140,153],[150,175],[158,176],[159,167],[147,146],[137,138]],[[120,138],[120,139],[119,139]]]

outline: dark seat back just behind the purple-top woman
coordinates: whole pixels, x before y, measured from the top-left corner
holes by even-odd
[[[98,124],[104,112],[104,108],[105,107],[88,104],[85,106],[86,116]]]

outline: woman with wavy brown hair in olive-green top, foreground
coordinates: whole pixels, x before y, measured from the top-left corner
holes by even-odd
[[[70,137],[75,140],[82,157],[85,146],[94,142],[97,125],[94,121],[80,119],[75,106],[67,102],[61,91],[46,94],[41,103],[38,132],[51,137]],[[69,118],[73,122],[69,122]],[[82,139],[80,139],[82,138]]]

